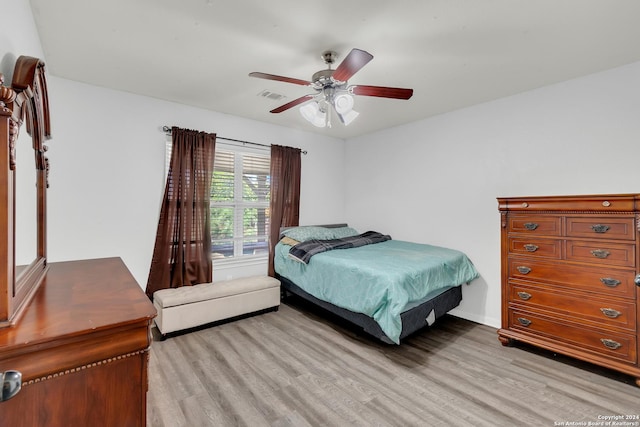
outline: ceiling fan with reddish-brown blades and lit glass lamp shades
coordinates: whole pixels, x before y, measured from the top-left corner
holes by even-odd
[[[301,96],[278,108],[274,108],[271,113],[281,113],[297,105],[304,104],[300,107],[300,113],[306,120],[318,127],[331,127],[332,109],[345,126],[351,123],[359,114],[353,110],[353,95],[393,99],[409,99],[413,95],[413,89],[350,85],[348,80],[367,65],[373,59],[373,55],[364,50],[352,49],[338,67],[333,70],[331,66],[335,63],[337,56],[337,53],[331,50],[323,52],[322,59],[328,68],[315,73],[311,77],[311,81],[259,72],[249,73],[249,76],[309,86],[315,90],[313,94]]]

